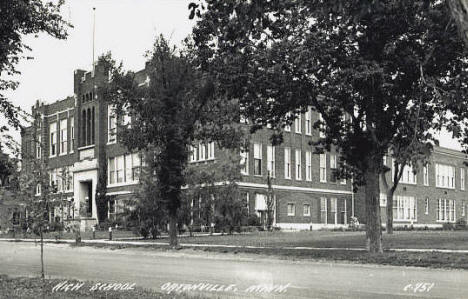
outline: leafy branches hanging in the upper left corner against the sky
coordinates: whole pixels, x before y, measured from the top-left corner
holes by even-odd
[[[70,26],[60,15],[64,0],[8,0],[0,2],[0,113],[8,123],[18,128],[19,109],[5,96],[7,90],[14,90],[18,82],[12,76],[18,75],[17,63],[22,58],[31,58],[24,54],[31,50],[24,44],[26,35],[47,33],[55,38],[67,37],[66,29]],[[7,129],[1,124],[0,131]]]

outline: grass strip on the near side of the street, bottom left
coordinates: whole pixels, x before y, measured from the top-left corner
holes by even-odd
[[[73,291],[65,291],[64,289],[53,291],[54,287],[56,287],[60,283],[63,283],[64,281],[67,281],[67,283],[74,285],[83,284],[83,286],[80,287],[78,290]],[[83,283],[73,279],[46,279],[44,284],[40,278],[12,278],[6,275],[0,275],[0,298],[201,298],[199,296],[187,295],[184,293],[171,293],[170,295],[167,295],[155,292],[153,290],[143,289],[140,287],[133,287],[129,290],[91,290],[94,286],[96,286],[96,282],[86,281]],[[110,287],[110,285],[107,286]]]

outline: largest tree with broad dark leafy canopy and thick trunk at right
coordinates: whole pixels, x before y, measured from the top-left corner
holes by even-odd
[[[381,252],[383,157],[412,142],[430,149],[432,130],[454,103],[464,105],[467,57],[446,1],[207,0],[190,8],[199,66],[257,127],[281,136],[295,113],[320,113],[317,152],[336,149],[341,174],[365,186],[367,246]],[[405,148],[413,156],[420,146]]]

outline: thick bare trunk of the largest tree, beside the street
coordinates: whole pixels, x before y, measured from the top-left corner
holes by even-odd
[[[368,161],[369,167],[364,175],[366,181],[366,247],[370,253],[382,253],[378,164],[375,157],[369,157]]]

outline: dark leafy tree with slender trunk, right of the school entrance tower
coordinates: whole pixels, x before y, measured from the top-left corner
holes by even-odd
[[[190,46],[184,51],[171,47],[160,36],[146,65],[147,84],[109,57],[112,78],[104,96],[116,105],[118,115],[132,116],[130,126],[118,127],[118,138],[129,150],[154,154],[158,196],[169,218],[170,245],[178,246],[177,220],[190,145],[194,141],[218,141],[235,146],[240,134],[230,119],[232,102],[215,97],[213,80],[193,67]],[[234,105],[235,106],[235,105]]]

